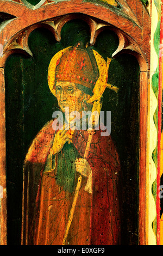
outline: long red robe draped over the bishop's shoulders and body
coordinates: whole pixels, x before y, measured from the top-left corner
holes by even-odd
[[[54,140],[52,120],[37,134],[24,163],[22,245],[62,245],[74,192],[64,191],[55,170],[44,172]],[[84,156],[88,133],[75,131],[73,145]],[[87,161],[92,193],[82,178],[67,245],[119,245],[121,234],[120,161],[110,136],[92,137]],[[78,179],[76,174],[76,180]]]

